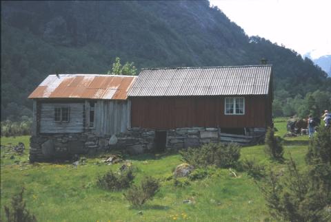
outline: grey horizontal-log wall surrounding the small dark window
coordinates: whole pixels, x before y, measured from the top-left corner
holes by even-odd
[[[81,133],[84,131],[83,103],[41,103],[39,133]],[[68,122],[55,122],[54,109],[68,107]]]

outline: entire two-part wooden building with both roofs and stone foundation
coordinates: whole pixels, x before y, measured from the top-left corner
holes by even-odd
[[[33,100],[30,160],[116,146],[128,153],[254,144],[272,126],[272,66],[50,75]]]

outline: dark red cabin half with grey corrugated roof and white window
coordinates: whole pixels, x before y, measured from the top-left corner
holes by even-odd
[[[131,126],[159,131],[163,146],[170,130],[194,128],[245,144],[272,126],[272,93],[272,65],[143,69],[128,94]]]

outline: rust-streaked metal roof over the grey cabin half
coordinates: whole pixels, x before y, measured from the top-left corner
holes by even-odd
[[[28,98],[87,98],[126,100],[137,76],[98,74],[50,75]]]

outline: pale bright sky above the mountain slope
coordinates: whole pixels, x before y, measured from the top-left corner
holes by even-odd
[[[248,36],[312,58],[331,55],[331,0],[210,0]]]

